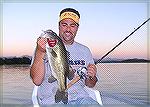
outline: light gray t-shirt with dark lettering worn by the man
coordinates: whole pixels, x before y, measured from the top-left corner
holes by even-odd
[[[94,64],[92,54],[88,47],[74,42],[72,45],[65,46],[69,52],[69,65],[77,70],[79,67],[87,67],[88,64]],[[55,104],[55,94],[58,89],[57,81],[53,83],[48,82],[49,76],[52,75],[48,59],[44,60],[45,64],[45,78],[43,83],[38,88],[38,100],[40,104]],[[77,75],[77,73],[75,73]],[[67,79],[67,84],[70,82]],[[77,98],[88,97],[84,90],[85,81],[80,79],[77,83],[68,89],[68,101],[76,100]],[[60,102],[61,103],[61,102]]]

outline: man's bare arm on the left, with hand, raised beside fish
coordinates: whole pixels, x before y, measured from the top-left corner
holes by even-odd
[[[35,85],[39,86],[41,85],[45,71],[44,71],[44,56],[45,56],[45,44],[46,39],[45,38],[38,38],[37,39],[37,47],[35,51],[35,57],[33,64],[30,68],[30,76],[32,78],[32,81]]]

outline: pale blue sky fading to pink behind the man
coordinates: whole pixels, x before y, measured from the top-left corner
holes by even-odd
[[[58,34],[59,12],[66,7],[80,12],[75,41],[88,46],[94,58],[101,58],[148,19],[146,2],[4,2],[2,5],[4,57],[32,56],[42,30],[52,29]],[[147,26],[142,26],[108,57],[147,59]]]

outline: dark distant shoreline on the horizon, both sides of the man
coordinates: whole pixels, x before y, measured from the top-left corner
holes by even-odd
[[[14,64],[31,64],[32,57],[31,56],[23,56],[23,57],[0,57],[0,65],[14,65]],[[98,59],[94,59],[94,62],[97,62]],[[150,63],[150,60],[146,59],[138,59],[138,58],[133,58],[133,59],[122,59],[122,60],[104,60],[99,63]]]

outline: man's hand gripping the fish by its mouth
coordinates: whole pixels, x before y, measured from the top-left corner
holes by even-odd
[[[45,53],[46,52],[46,43],[47,43],[47,38],[39,37],[37,39],[37,50]]]

